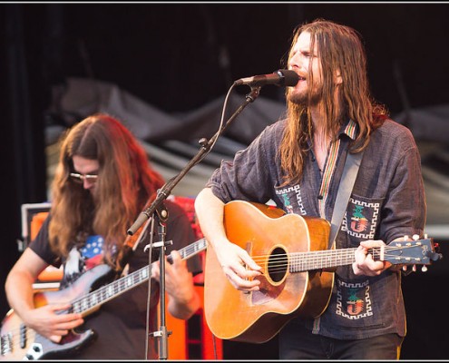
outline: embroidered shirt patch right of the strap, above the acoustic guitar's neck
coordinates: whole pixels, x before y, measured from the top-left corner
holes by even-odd
[[[347,231],[348,235],[358,239],[372,240],[375,236],[379,209],[378,202],[370,203],[350,198],[341,226],[342,231]],[[347,221],[348,211],[352,211],[349,222]]]

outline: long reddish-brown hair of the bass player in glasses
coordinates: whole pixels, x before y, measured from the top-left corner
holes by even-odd
[[[94,198],[69,177],[74,155],[99,162]],[[76,123],[63,135],[52,184],[52,249],[67,256],[87,235],[99,234],[104,239],[105,260],[116,265],[113,256],[122,250],[126,231],[162,184],[146,152],[120,121],[96,113]]]

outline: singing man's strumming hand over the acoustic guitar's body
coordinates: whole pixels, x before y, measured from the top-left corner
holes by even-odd
[[[259,290],[260,281],[254,278],[261,274],[262,269],[246,250],[229,240],[215,243],[214,248],[221,268],[232,286],[247,291]]]

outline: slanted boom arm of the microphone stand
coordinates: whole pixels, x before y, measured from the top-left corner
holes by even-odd
[[[129,235],[132,236],[136,231],[139,230],[143,222],[147,221],[151,217],[151,215],[159,206],[161,201],[167,199],[167,197],[171,194],[173,188],[181,181],[184,175],[187,174],[187,172],[189,172],[191,168],[193,168],[198,162],[200,162],[204,158],[204,156],[207,155],[207,153],[210,152],[210,148],[212,147],[214,142],[220,137],[220,134],[229,127],[229,124],[236,119],[239,113],[241,113],[249,103],[252,103],[254,102],[254,100],[256,100],[256,98],[259,96],[260,88],[261,88],[260,86],[251,87],[251,92],[246,95],[245,102],[242,103],[237,109],[237,111],[229,117],[229,120],[220,128],[220,130],[210,138],[209,142],[206,139],[200,140],[201,145],[200,151],[190,160],[190,162],[188,162],[188,164],[184,167],[184,169],[181,170],[181,172],[177,176],[175,176],[169,182],[166,182],[162,186],[161,190],[158,192],[156,199],[152,201],[150,207],[148,207],[145,211],[141,212],[139,217],[136,219],[136,221],[134,221],[130,229],[127,231]]]

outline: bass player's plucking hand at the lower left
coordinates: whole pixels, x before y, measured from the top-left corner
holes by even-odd
[[[84,322],[81,314],[62,313],[70,308],[70,304],[45,305],[26,313],[24,321],[27,326],[45,338],[59,343],[69,330],[79,327]]]

